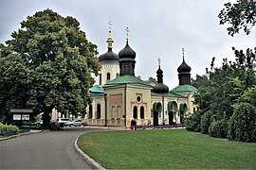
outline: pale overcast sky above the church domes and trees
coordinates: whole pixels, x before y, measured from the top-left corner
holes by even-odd
[[[137,53],[136,76],[156,77],[161,59],[164,83],[170,90],[178,85],[177,67],[185,60],[192,77],[205,74],[212,57],[220,66],[223,58],[234,59],[232,46],[256,46],[253,28],[247,36],[241,31],[231,37],[220,26],[218,13],[228,0],[0,0],[0,42],[20,27],[20,22],[36,11],[51,8],[60,15],[73,16],[100,55],[107,51],[108,21],[111,20],[114,52],[125,46],[125,27],[130,28],[129,44]],[[235,2],[231,0],[231,2]]]

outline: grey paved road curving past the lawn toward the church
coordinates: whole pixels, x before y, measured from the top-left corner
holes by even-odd
[[[76,137],[90,130],[99,129],[66,127],[1,141],[0,169],[90,169],[74,149]]]

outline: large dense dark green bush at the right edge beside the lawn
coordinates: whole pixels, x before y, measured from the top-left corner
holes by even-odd
[[[248,103],[239,103],[229,120],[229,140],[256,142],[256,111]]]

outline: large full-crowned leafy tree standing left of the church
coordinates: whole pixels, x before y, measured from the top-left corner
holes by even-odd
[[[44,112],[44,125],[53,107],[77,112],[89,101],[91,73],[97,75],[100,66],[97,45],[86,40],[79,26],[75,18],[46,8],[27,16],[7,41],[29,70],[25,105]]]

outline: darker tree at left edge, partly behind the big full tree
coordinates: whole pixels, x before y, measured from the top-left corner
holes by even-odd
[[[0,119],[9,123],[10,108],[25,108],[30,70],[18,53],[11,53],[3,44],[0,47]]]

